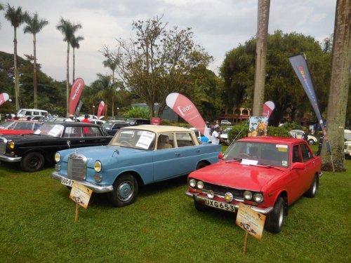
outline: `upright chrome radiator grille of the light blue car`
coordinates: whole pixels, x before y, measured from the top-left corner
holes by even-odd
[[[67,163],[67,177],[72,180],[86,179],[86,156],[70,154]]]

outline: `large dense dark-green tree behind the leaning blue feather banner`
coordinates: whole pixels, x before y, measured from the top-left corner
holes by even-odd
[[[253,79],[256,60],[256,39],[249,39],[227,53],[220,74],[225,81],[223,102],[228,109],[248,107],[252,104]],[[289,56],[304,52],[310,71],[320,109],[326,109],[330,69],[330,54],[324,53],[319,43],[311,36],[276,31],[267,38],[267,62],[265,79],[265,101],[272,100],[275,109],[270,125],[277,125],[288,116],[294,121],[307,112],[313,112],[307,95],[289,64]],[[311,121],[314,121],[312,118]]]

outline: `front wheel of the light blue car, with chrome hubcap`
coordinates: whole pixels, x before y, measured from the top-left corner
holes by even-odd
[[[138,182],[131,174],[120,175],[114,181],[113,191],[108,193],[112,205],[117,208],[134,203],[138,195]]]

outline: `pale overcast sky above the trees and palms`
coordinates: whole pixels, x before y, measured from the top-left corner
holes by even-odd
[[[37,12],[49,24],[37,34],[37,58],[41,70],[57,81],[66,79],[67,43],[56,29],[60,18],[80,23],[77,36],[83,36],[76,51],[76,78],[87,85],[96,74],[110,72],[102,66],[102,46],[114,48],[115,39],[132,36],[131,23],[164,15],[168,29],[192,28],[194,41],[204,47],[214,62],[214,72],[222,64],[225,53],[256,34],[258,0],[0,0],[1,4]],[[313,36],[317,41],[333,33],[336,0],[271,0],[269,33],[282,29]],[[0,50],[13,53],[13,27],[0,11]],[[33,54],[33,37],[18,33],[18,55]],[[72,49],[70,54],[72,79]],[[293,55],[293,54],[292,54]],[[1,90],[0,90],[1,93]]]

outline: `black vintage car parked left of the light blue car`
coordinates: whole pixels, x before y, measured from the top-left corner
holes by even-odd
[[[55,152],[62,149],[107,145],[112,136],[97,124],[44,123],[28,135],[0,136],[0,161],[20,162],[22,170],[36,172],[44,163],[55,163]]]

